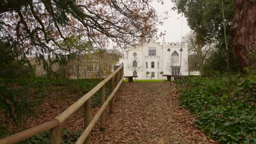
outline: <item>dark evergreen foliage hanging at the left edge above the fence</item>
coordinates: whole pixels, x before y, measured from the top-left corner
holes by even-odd
[[[38,102],[27,99],[30,85],[26,79],[34,77],[34,73],[31,65],[19,57],[20,53],[9,43],[0,41],[0,110],[16,123],[24,116],[34,115],[33,107]],[[23,84],[20,85],[18,80]]]

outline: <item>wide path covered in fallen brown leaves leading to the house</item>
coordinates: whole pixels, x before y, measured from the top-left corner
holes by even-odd
[[[174,83],[124,83],[106,131],[92,131],[92,143],[214,143],[194,127],[178,105]]]

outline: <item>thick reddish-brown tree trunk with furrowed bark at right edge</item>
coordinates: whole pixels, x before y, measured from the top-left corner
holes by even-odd
[[[255,67],[256,1],[236,0],[232,21],[233,49],[241,68]]]

